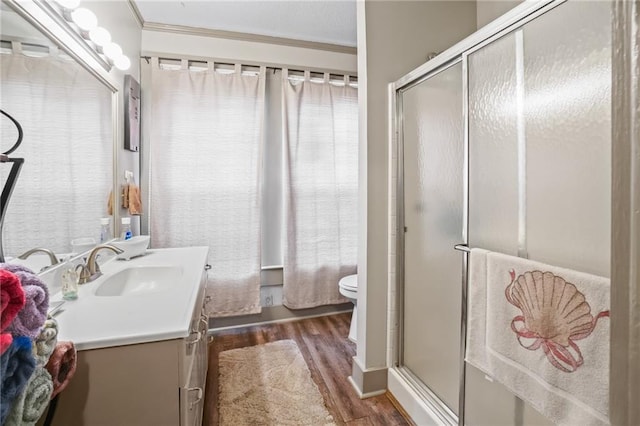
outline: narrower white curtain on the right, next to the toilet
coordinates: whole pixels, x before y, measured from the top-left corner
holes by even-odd
[[[345,302],[338,280],[356,272],[358,93],[348,77],[304,81],[283,72],[283,303]]]

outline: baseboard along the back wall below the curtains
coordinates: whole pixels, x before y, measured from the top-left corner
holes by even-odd
[[[209,333],[238,327],[295,321],[304,318],[321,317],[351,311],[353,311],[353,304],[350,302],[341,303],[339,305],[327,305],[319,306],[317,308],[295,310],[288,309],[286,306],[282,305],[269,306],[262,308],[262,312],[259,314],[226,318],[209,318]]]

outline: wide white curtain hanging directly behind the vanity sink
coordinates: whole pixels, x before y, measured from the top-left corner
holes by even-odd
[[[265,70],[151,68],[151,244],[209,246],[208,314],[258,313]]]

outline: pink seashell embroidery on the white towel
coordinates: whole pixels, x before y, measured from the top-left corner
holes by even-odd
[[[520,346],[531,351],[542,348],[551,365],[567,373],[576,371],[584,359],[575,341],[589,336],[609,311],[591,315],[584,294],[551,272],[527,271],[517,278],[515,271],[509,274],[505,297],[522,311],[511,321]]]

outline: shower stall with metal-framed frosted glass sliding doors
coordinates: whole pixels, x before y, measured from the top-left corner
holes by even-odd
[[[612,13],[525,3],[390,85],[389,386],[419,424],[552,424],[464,361],[467,248],[610,277]]]

